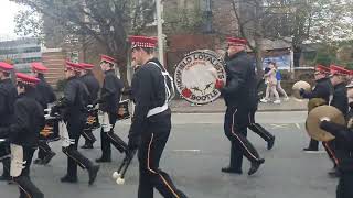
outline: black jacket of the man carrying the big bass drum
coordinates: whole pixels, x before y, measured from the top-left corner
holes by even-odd
[[[227,107],[257,108],[257,79],[255,65],[246,52],[226,55],[227,82],[221,90]]]

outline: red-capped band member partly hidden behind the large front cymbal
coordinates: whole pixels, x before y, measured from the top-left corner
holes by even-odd
[[[330,66],[330,72],[331,72],[330,80],[333,86],[333,94],[332,94],[332,100],[330,101],[329,105],[338,108],[343,113],[343,116],[346,117],[349,111],[349,101],[346,97],[345,86],[347,82],[347,78],[351,75],[351,72],[341,66],[335,66],[335,65]],[[338,158],[335,153],[336,141],[333,140],[329,142],[323,142],[322,144],[334,165],[333,169],[329,172],[329,175],[339,176],[340,173],[338,170],[338,166],[340,164],[340,160]]]

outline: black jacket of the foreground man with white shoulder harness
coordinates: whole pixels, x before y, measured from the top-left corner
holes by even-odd
[[[149,62],[162,67],[157,58]],[[133,75],[131,89],[136,106],[129,139],[138,139],[146,128],[148,111],[165,102],[165,84],[160,68],[151,63],[141,66]]]

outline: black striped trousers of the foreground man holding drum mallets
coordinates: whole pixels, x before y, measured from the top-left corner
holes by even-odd
[[[153,188],[156,188],[163,197],[186,197],[174,186],[170,176],[159,168],[159,162],[168,141],[170,130],[170,110],[148,119],[138,150],[140,169],[138,198],[153,198]]]

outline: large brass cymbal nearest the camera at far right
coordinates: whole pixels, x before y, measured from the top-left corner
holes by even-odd
[[[332,106],[320,106],[312,109],[307,118],[307,132],[309,136],[317,141],[331,141],[335,139],[331,133],[322,130],[320,123],[322,120],[329,120],[330,122],[345,125],[343,113]]]

